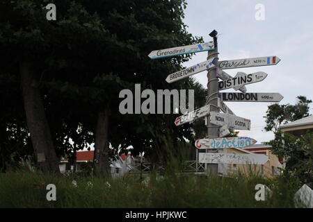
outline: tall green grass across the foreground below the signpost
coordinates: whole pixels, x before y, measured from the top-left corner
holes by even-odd
[[[255,200],[259,183],[273,191],[265,201]],[[48,184],[56,185],[56,201],[46,199]],[[135,175],[106,180],[19,169],[0,174],[0,207],[294,207],[299,186],[283,178],[266,180],[252,174],[222,178],[166,171],[163,176],[154,172],[145,180]]]

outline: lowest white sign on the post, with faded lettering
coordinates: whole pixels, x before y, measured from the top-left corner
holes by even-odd
[[[264,154],[241,153],[199,153],[199,162],[206,164],[257,164],[263,165],[268,161]]]

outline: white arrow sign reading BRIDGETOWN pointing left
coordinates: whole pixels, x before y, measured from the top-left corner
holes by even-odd
[[[181,71],[177,71],[173,74],[170,74],[166,78],[166,82],[173,83],[178,80],[181,80],[182,78],[187,78],[188,76],[198,74],[200,71],[211,69],[215,67],[214,64],[216,64],[216,60],[217,58],[211,58],[210,60],[207,60],[205,62],[198,63],[197,65],[193,65],[192,67],[188,67]]]

